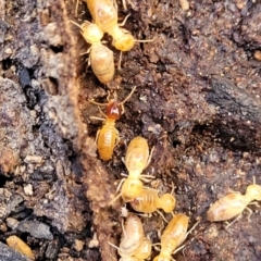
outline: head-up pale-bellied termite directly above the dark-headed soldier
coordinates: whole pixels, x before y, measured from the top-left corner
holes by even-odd
[[[80,34],[91,47],[85,53],[89,53],[88,65],[102,84],[108,84],[114,76],[113,52],[102,45],[103,32],[97,24],[85,21],[82,25],[71,21],[80,28]]]

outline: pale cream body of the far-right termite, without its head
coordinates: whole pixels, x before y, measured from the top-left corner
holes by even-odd
[[[228,194],[210,207],[207,220],[212,222],[231,220],[240,214],[251,201],[248,195]]]

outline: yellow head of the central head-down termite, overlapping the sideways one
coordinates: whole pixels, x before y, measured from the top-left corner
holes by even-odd
[[[122,186],[122,198],[125,202],[134,200],[141,194],[144,188],[142,182],[139,179],[129,179],[127,178]]]

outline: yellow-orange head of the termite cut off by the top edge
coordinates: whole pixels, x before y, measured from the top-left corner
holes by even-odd
[[[120,29],[121,34],[113,38],[112,45],[120,51],[129,51],[134,47],[135,39],[128,30]]]

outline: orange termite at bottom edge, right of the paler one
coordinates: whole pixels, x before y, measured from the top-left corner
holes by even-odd
[[[187,238],[188,234],[196,227],[198,222],[192,226],[192,228],[187,232],[188,228],[188,216],[185,214],[175,215],[161,236],[161,251],[153,261],[171,261],[172,254],[181,250],[179,247],[184,240]],[[183,247],[182,247],[183,248]]]

